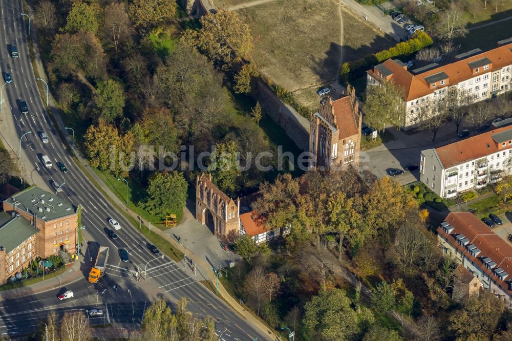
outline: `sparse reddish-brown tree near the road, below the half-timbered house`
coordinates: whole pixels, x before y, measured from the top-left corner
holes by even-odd
[[[267,273],[262,265],[257,265],[247,275],[244,291],[248,304],[260,315],[265,301],[271,301],[279,290],[279,278],[274,272]]]

